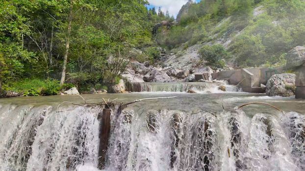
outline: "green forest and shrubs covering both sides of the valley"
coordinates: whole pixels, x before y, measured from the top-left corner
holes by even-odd
[[[0,90],[107,89],[130,60],[202,44],[206,64],[280,65],[305,44],[304,0],[202,0],[175,21],[147,0],[1,0]],[[254,16],[254,8],[263,13]],[[161,21],[170,26],[155,25]],[[234,36],[227,47],[217,38]],[[177,50],[176,50],[177,51]]]

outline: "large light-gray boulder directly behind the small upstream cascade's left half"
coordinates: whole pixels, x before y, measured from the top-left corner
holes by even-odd
[[[146,74],[143,77],[143,80],[145,82],[161,82],[161,83],[172,82],[171,77],[168,76],[165,71],[157,70],[157,69],[154,69],[152,70],[152,72]]]

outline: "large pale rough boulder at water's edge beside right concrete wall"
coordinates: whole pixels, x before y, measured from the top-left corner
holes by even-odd
[[[266,94],[268,96],[293,96],[295,94],[295,74],[273,75],[266,84]]]

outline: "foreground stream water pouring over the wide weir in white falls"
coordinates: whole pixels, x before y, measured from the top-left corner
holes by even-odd
[[[305,101],[250,93],[84,95],[114,106],[104,171],[304,171]],[[78,96],[0,99],[0,171],[98,171],[103,106]],[[284,112],[249,102],[266,102]],[[58,107],[58,109],[57,109]]]

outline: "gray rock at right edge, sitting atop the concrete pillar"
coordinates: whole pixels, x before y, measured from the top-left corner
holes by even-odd
[[[287,68],[293,68],[301,66],[305,63],[305,47],[304,46],[297,46],[290,50],[286,55]]]

